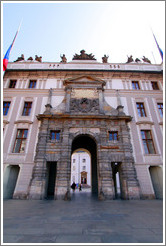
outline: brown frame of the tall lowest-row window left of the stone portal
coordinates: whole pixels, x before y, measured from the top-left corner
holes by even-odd
[[[19,131],[22,131],[21,137],[19,136]],[[25,133],[25,131],[26,131],[26,133]],[[25,133],[26,137],[24,137],[24,133]],[[25,152],[25,148],[24,148],[23,152],[21,152],[20,150],[21,150],[21,147],[23,144],[25,144],[25,146],[26,146],[27,135],[28,135],[28,129],[17,129],[16,138],[15,138],[12,153],[24,153]],[[19,140],[20,140],[20,143],[19,143]],[[17,142],[19,144],[19,151],[18,152],[16,152]]]

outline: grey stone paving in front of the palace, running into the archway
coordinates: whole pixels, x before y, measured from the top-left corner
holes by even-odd
[[[161,200],[4,200],[3,243],[162,243]]]

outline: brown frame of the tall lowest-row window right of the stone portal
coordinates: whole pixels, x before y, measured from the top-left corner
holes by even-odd
[[[145,139],[143,139],[142,132],[144,132]],[[147,137],[147,133],[149,133],[150,138]],[[148,154],[148,155],[150,155],[150,154],[152,154],[152,155],[153,154],[156,154],[156,150],[155,150],[155,146],[154,146],[154,142],[153,142],[151,130],[143,130],[142,129],[141,130],[141,138],[142,138],[142,142],[143,142],[145,154]],[[149,148],[149,145],[150,144],[153,147],[153,153],[151,153],[151,151],[150,151],[150,148]],[[145,145],[146,145],[146,149],[148,150],[148,153],[146,152]]]

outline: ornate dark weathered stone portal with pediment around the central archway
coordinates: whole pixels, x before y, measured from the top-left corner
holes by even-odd
[[[104,85],[91,76],[67,79],[65,98],[56,108],[51,106],[50,92],[46,111],[37,116],[41,126],[29,199],[47,198],[50,170],[55,181],[51,184],[53,198],[70,199],[71,155],[78,148],[91,153],[92,192],[99,199],[117,197],[117,172],[120,197],[140,199],[128,128],[132,119],[124,114],[122,105],[115,109],[106,103]],[[57,139],[50,138],[53,131],[59,134]],[[118,133],[117,140],[110,139],[112,132]]]

